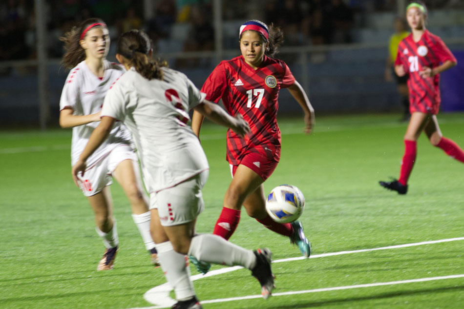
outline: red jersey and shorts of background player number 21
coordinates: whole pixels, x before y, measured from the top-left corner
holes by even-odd
[[[440,76],[422,78],[419,71],[425,67],[434,68],[446,60],[456,62],[440,37],[425,30],[418,42],[413,40],[412,33],[404,38],[398,46],[395,65],[402,64],[409,74],[409,104],[411,112],[438,114],[440,107]]]

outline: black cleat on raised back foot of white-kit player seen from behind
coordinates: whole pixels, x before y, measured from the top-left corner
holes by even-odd
[[[268,248],[253,251],[256,256],[256,265],[252,269],[252,275],[258,279],[261,285],[261,295],[268,299],[274,288],[274,275],[271,270],[272,252]]]

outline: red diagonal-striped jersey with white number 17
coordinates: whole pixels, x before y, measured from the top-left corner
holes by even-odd
[[[280,159],[280,129],[277,125],[280,88],[295,83],[287,64],[264,56],[254,70],[243,56],[220,62],[203,84],[206,100],[218,103],[222,99],[226,110],[234,116],[240,113],[250,124],[251,132],[244,138],[231,129],[227,131],[227,161],[240,164],[247,151],[267,153]]]

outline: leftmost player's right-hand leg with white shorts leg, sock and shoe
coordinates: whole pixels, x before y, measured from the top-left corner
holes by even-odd
[[[148,211],[148,196],[142,185],[137,157],[132,149],[126,146],[112,151],[108,168],[112,176],[121,185],[132,209],[132,219],[139,229],[145,247],[151,253],[152,263],[159,265],[155,244],[150,235],[150,212]]]

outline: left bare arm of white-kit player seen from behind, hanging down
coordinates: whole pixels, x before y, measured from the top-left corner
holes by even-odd
[[[88,157],[103,143],[103,141],[105,141],[106,137],[111,131],[111,128],[113,127],[114,121],[114,118],[107,116],[102,117],[102,121],[93,130],[92,135],[90,135],[84,150],[79,156],[79,160],[71,168],[72,178],[77,186],[79,186],[77,174],[82,172],[82,175],[84,175],[86,167],[85,162],[87,161]]]

